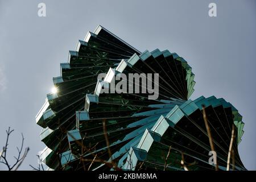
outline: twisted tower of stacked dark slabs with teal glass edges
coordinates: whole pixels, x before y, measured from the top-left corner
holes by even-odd
[[[233,160],[238,154],[242,116],[223,98],[189,100],[195,85],[187,61],[168,50],[140,52],[98,26],[69,51],[53,78],[57,92],[47,94],[36,123],[46,148],[41,158],[56,170],[214,170],[203,106],[217,153],[226,170],[234,125]],[[98,79],[100,73],[108,73]],[[158,73],[159,97],[149,93],[101,93],[119,73]],[[142,84],[139,85],[142,89]]]

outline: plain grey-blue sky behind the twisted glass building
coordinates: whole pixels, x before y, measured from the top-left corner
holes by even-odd
[[[38,16],[40,2],[46,17]],[[208,15],[210,2],[217,4],[217,17]],[[254,0],[0,0],[0,147],[11,126],[10,159],[23,133],[31,150],[20,169],[37,165],[44,144],[35,115],[52,77],[60,75],[77,40],[101,24],[140,51],[169,49],[184,57],[196,75],[191,98],[223,97],[243,116],[240,156],[247,169],[256,169],[255,8]]]

